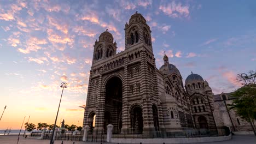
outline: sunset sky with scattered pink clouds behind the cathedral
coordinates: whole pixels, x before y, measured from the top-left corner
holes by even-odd
[[[124,27],[136,11],[152,31],[156,67],[164,51],[183,81],[191,71],[214,94],[240,87],[256,70],[256,1],[0,0],[0,129],[30,123],[82,126],[94,42],[106,29],[124,51]]]

